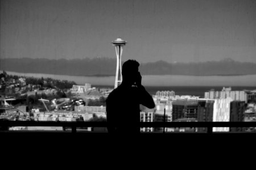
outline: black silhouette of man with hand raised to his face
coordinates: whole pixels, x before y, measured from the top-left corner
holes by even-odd
[[[109,133],[140,133],[139,122],[142,104],[155,108],[154,100],[141,84],[139,63],[129,59],[122,65],[122,83],[115,88],[106,100]]]

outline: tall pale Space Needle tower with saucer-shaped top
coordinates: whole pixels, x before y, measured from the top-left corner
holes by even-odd
[[[115,53],[117,54],[117,70],[115,71],[115,86],[117,88],[122,83],[122,67],[121,67],[121,56],[123,52],[123,46],[127,42],[118,37],[116,40],[112,41],[112,44],[115,46]]]

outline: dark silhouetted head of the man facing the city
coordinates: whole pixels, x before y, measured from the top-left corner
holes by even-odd
[[[139,71],[139,63],[134,59],[129,59],[122,65],[123,83],[134,84]]]

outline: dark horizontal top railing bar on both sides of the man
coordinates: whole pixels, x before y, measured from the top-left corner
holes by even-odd
[[[106,127],[107,122],[0,121],[0,126]],[[256,122],[140,122],[141,128],[256,127]]]

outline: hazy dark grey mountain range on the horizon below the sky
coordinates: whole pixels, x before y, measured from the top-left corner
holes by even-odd
[[[115,75],[115,58],[84,59],[0,58],[0,70],[18,73],[42,73],[76,76]],[[220,61],[168,63],[156,61],[140,63],[142,75],[251,75],[256,74],[256,63],[238,62],[226,58]]]

